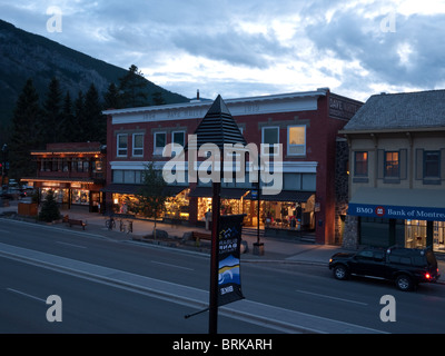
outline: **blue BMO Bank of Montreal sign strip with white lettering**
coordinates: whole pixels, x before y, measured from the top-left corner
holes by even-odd
[[[445,221],[445,208],[349,204],[348,215],[403,220]]]

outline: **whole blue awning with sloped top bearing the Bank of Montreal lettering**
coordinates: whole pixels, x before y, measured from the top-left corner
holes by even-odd
[[[360,188],[349,201],[348,215],[445,221],[445,190]]]

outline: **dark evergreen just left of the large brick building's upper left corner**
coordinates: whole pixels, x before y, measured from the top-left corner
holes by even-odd
[[[85,141],[99,141],[105,144],[107,140],[107,120],[102,115],[99,102],[99,92],[93,83],[90,85],[85,97],[85,117],[88,126],[83,127]]]

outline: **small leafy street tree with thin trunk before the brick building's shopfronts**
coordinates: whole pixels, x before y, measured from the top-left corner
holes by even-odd
[[[144,172],[142,187],[138,191],[138,210],[146,217],[155,219],[154,237],[156,239],[156,219],[166,209],[167,196],[165,188],[167,182],[164,180],[160,170],[154,168],[152,161],[146,166]]]

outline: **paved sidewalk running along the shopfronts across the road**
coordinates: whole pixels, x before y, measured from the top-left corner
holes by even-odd
[[[11,214],[17,214],[17,205],[18,201],[11,201],[10,207],[0,207],[0,217],[7,211]],[[155,243],[152,240],[145,239],[146,236],[152,234],[152,229],[155,226],[154,221],[123,218],[122,222],[126,225],[126,229],[128,226],[128,221],[132,221],[132,233],[127,234],[126,231],[119,230],[120,218],[115,217],[116,228],[109,230],[106,227],[106,220],[108,219],[108,216],[76,210],[61,210],[61,214],[63,216],[68,215],[71,219],[81,219],[86,221],[86,229],[83,231],[80,226],[73,226],[69,228],[68,224],[62,222],[55,224],[53,226],[56,228],[70,229],[73,231],[85,233],[93,235],[96,237],[119,241],[140,241],[140,244],[144,244],[142,241]],[[32,219],[28,220],[32,221]],[[210,251],[210,241],[202,240],[199,246],[196,246],[194,241],[188,241],[187,244],[184,244],[181,241],[185,233],[199,231],[210,234],[210,231],[207,231],[204,228],[157,222],[157,231],[159,230],[166,231],[168,234],[168,238],[159,238],[156,241],[156,244],[158,245],[187,248],[189,250],[205,254],[209,254]],[[160,233],[158,233],[158,236],[160,236],[159,234]],[[264,244],[264,255],[259,256],[254,255],[253,244],[257,241],[256,236],[243,235],[243,240],[247,241],[248,249],[245,254],[241,255],[241,260],[246,260],[249,263],[287,263],[327,266],[330,256],[333,256],[334,254],[340,251],[353,251],[344,249],[340,246],[304,244],[298,240],[285,240],[284,238],[276,237],[261,237],[260,243]],[[445,271],[445,260],[441,259],[441,257],[437,259],[439,270],[443,273]]]

